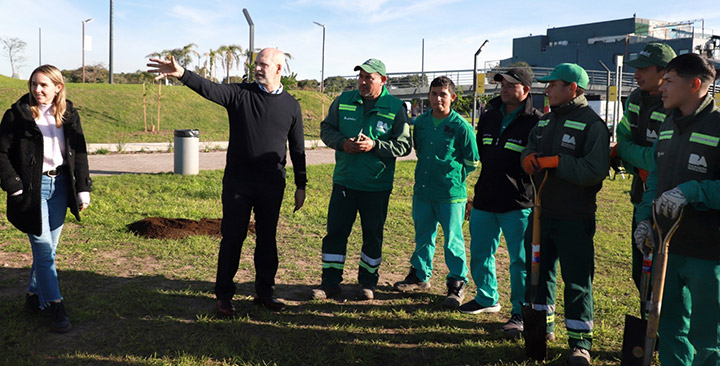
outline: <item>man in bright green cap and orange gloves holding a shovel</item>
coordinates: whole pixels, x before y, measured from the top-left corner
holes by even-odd
[[[547,332],[554,333],[559,260],[565,282],[565,326],[572,349],[568,363],[589,365],[596,195],[609,165],[609,133],[605,122],[588,106],[584,91],[589,78],[582,67],[559,64],[538,81],[548,82],[545,94],[551,110],[530,131],[528,145],[521,153],[523,169],[534,174],[537,184],[549,170],[540,197],[541,245],[532,248],[540,250],[534,304],[535,309],[547,311]],[[532,250],[526,246],[527,253]],[[531,261],[527,260],[528,266]]]

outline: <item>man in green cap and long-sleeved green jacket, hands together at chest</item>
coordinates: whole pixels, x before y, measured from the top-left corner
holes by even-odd
[[[412,146],[405,104],[385,88],[385,64],[371,58],[355,71],[360,72],[358,90],[337,97],[320,124],[320,138],[335,149],[335,172],[315,299],[340,293],[348,236],[358,213],[363,231],[359,298],[374,298],[395,159],[408,155]]]

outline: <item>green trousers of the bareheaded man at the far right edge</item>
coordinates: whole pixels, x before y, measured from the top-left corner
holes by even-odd
[[[720,260],[670,254],[658,351],[663,366],[720,365]]]

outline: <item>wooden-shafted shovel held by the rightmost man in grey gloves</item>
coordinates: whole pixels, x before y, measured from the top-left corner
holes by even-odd
[[[655,205],[652,208],[653,221],[656,223],[660,245],[655,256],[655,266],[652,271],[652,298],[643,307],[643,314],[649,309],[647,320],[638,319],[629,315],[625,316],[625,334],[623,336],[623,350],[621,365],[623,366],[650,366],[652,356],[657,344],[657,328],[660,322],[660,310],[665,287],[665,274],[667,272],[668,246],[670,239],[680,227],[684,209],[680,211],[678,218],[670,227],[667,234],[663,233],[660,225],[657,225],[655,216]],[[643,261],[643,276],[645,276],[645,263]],[[642,285],[645,283],[643,277]],[[649,280],[647,281],[649,282]],[[644,331],[643,331],[644,330]]]

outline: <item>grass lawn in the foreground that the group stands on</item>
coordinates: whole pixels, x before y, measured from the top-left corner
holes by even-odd
[[[331,165],[308,167],[306,207],[292,213],[288,187],[279,225],[276,294],[291,305],[270,313],[251,303],[254,238],[246,241],[236,278],[239,317],[218,319],[213,282],[218,238],[144,239],[126,226],[149,216],[200,219],[221,216],[220,171],[198,176],[96,177],[83,221],[68,216],[58,248],[60,285],[74,330],[48,332],[49,319],[23,311],[32,254],[27,238],[0,214],[0,364],[7,365],[524,365],[522,341],[506,340],[509,274],[498,251],[497,314],[444,310],[442,250],[427,293],[399,294],[413,251],[414,162],[399,162],[385,228],[378,299],[355,301],[360,228],[348,246],[344,293],[348,300],[311,301],[320,282]],[[291,172],[288,172],[291,175]],[[475,182],[477,173],[470,180]],[[292,182],[292,177],[288,177]],[[606,181],[599,194],[595,271],[595,365],[619,361],[623,315],[638,308],[630,280],[629,181]],[[4,208],[3,208],[4,210]],[[4,211],[0,211],[4,212]],[[467,224],[466,224],[467,229]],[[466,238],[469,236],[466,235]],[[474,286],[469,286],[473,296]],[[562,305],[562,284],[558,288]],[[558,306],[558,340],[550,365],[565,363],[567,336]]]

